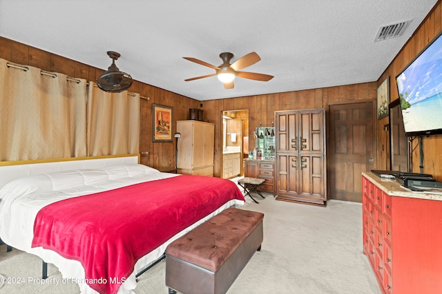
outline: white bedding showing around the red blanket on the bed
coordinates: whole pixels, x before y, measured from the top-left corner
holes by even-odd
[[[77,169],[46,173],[13,180],[0,189],[0,238],[16,249],[38,255],[45,262],[55,264],[64,278],[75,279],[81,293],[97,293],[84,282],[84,269],[80,262],[62,258],[55,251],[31,247],[33,227],[38,211],[59,200],[173,176],[180,175],[160,173],[145,165],[118,165],[104,169]],[[240,200],[227,202],[217,211],[138,260],[134,272],[120,286],[118,293],[133,293],[133,289],[137,286],[135,274],[160,258],[170,242],[220,211],[231,206],[240,207],[242,204]]]

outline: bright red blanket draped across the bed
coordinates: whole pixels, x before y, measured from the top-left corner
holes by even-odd
[[[230,180],[181,175],[61,200],[37,214],[32,247],[78,260],[91,288],[117,293],[138,259],[231,199],[244,197]]]

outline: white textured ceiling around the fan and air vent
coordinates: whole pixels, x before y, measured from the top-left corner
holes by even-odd
[[[0,0],[0,36],[106,70],[106,52],[137,80],[200,101],[376,81],[436,0]],[[384,25],[412,20],[403,36],[374,42]],[[221,52],[275,76],[236,78],[224,90]]]

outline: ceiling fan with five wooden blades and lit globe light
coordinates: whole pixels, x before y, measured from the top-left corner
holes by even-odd
[[[270,81],[273,76],[269,74],[258,74],[256,72],[238,72],[238,70],[242,70],[244,67],[248,67],[253,65],[261,60],[260,56],[256,54],[256,52],[250,52],[242,56],[240,59],[230,64],[231,59],[233,58],[233,54],[230,52],[222,52],[220,54],[220,58],[222,59],[222,64],[220,66],[211,65],[210,63],[206,63],[204,61],[200,61],[200,59],[194,59],[193,57],[183,57],[188,61],[193,61],[194,63],[198,63],[200,65],[204,65],[206,67],[213,68],[215,70],[214,74],[206,74],[205,76],[196,76],[195,78],[187,78],[186,82],[198,80],[199,78],[208,78],[209,76],[218,76],[218,79],[222,81],[225,89],[233,89],[234,83],[233,79],[236,76],[240,78],[249,78],[250,80],[255,81]]]

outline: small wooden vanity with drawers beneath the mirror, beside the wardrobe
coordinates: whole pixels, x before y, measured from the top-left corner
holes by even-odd
[[[258,190],[275,196],[275,160],[244,159],[244,177],[265,179]]]

